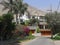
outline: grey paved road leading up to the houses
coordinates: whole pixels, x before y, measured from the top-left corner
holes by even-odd
[[[34,41],[31,41],[30,43],[26,45],[55,45],[54,42],[46,37],[40,37]]]

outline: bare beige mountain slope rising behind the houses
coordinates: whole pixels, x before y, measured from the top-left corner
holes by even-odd
[[[39,10],[35,7],[32,6],[28,6],[27,11],[30,13],[30,15],[35,15],[35,16],[44,16],[46,14],[46,12]]]

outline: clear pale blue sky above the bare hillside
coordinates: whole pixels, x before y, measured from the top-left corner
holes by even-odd
[[[38,9],[47,11],[52,5],[52,9],[56,10],[59,4],[59,0],[24,0],[29,5]]]

